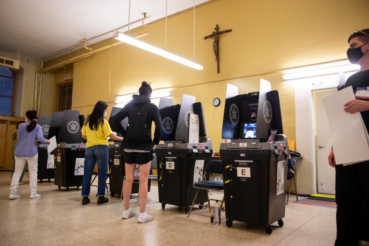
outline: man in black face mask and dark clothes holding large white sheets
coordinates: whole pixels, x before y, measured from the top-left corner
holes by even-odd
[[[358,87],[369,86],[369,29],[356,30],[349,37],[348,43],[347,57],[352,64],[360,65],[360,71],[350,76],[343,86],[352,86],[357,99],[342,106],[349,114],[360,112],[369,132],[369,100],[356,93]],[[369,233],[364,224],[369,220],[369,161],[348,166],[336,165],[332,149],[328,162],[336,169],[335,245],[358,245],[359,240],[369,241]]]

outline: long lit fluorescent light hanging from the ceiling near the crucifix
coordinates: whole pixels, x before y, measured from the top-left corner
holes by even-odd
[[[130,37],[128,35],[125,35],[125,34],[123,34],[121,32],[115,32],[114,38],[115,39],[118,39],[119,41],[125,42],[127,44],[136,46],[137,48],[144,49],[145,51],[149,51],[149,52],[154,53],[156,55],[159,55],[159,56],[168,58],[170,60],[173,60],[175,62],[181,63],[183,65],[192,67],[194,69],[202,70],[204,68],[200,64],[197,64],[197,63],[192,62],[190,60],[184,59],[184,58],[182,58],[180,56],[177,56],[177,55],[175,55],[173,53],[170,53],[168,51],[165,51],[163,49],[160,49],[158,47],[155,47],[155,46],[153,46],[151,44],[147,44],[145,42],[142,42],[141,40],[135,39],[135,38]]]

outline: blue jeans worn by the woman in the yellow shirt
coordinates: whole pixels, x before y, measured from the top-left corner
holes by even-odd
[[[97,175],[99,183],[97,184],[97,195],[105,195],[106,174],[108,172],[109,150],[106,145],[94,145],[86,148],[85,167],[83,168],[82,197],[90,195],[91,179],[95,163],[97,162]]]

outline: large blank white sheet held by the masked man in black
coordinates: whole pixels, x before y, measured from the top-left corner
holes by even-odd
[[[354,99],[352,86],[322,99],[336,164],[344,166],[369,160],[369,136],[361,114],[349,114],[344,110],[344,104]]]

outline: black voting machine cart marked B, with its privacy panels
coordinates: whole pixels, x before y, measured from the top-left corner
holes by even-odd
[[[76,158],[85,158],[86,143],[81,133],[84,121],[85,115],[79,115],[79,111],[64,111],[58,145],[52,152],[55,155],[54,183],[59,190],[61,187],[66,187],[68,191],[69,187],[82,186],[83,161],[76,163]]]

